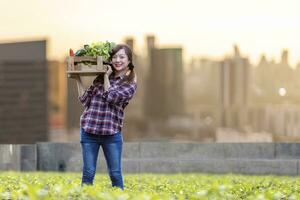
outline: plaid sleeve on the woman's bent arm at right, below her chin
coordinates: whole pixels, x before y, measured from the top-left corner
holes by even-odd
[[[124,83],[117,88],[109,88],[103,92],[104,101],[112,104],[127,103],[134,95],[137,89],[136,83]]]

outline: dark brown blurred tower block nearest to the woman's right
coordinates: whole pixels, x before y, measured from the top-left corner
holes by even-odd
[[[154,41],[151,40],[151,43]],[[182,48],[150,48],[145,115],[165,120],[184,112]]]

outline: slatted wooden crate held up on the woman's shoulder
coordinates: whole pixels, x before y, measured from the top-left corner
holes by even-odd
[[[85,64],[84,62],[91,64]],[[103,65],[101,56],[69,56],[67,58],[67,74],[69,78],[74,74],[80,76],[96,76],[105,73],[106,70],[107,66]]]

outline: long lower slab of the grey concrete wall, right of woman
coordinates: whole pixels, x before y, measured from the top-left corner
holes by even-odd
[[[254,159],[140,160],[148,173],[239,173],[298,175],[298,161]]]

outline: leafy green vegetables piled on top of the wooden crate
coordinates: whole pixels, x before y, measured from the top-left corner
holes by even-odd
[[[116,46],[113,42],[95,42],[84,45],[84,48],[76,51],[75,56],[102,56],[104,62],[108,62],[112,49]]]

